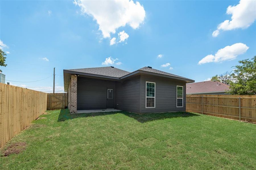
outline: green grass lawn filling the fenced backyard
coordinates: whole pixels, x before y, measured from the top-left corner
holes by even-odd
[[[187,112],[49,111],[0,169],[256,169],[256,125]],[[3,149],[2,149],[3,153]]]

